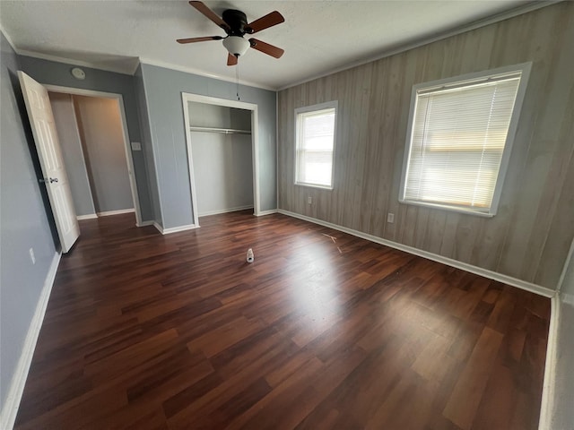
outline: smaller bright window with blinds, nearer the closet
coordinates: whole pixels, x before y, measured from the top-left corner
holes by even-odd
[[[337,102],[295,109],[295,184],[333,188]]]

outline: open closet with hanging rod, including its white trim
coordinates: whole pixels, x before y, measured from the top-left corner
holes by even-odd
[[[259,208],[257,105],[183,93],[194,224]]]

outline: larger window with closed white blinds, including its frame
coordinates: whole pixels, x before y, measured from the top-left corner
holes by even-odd
[[[400,201],[496,213],[530,64],[413,87]]]

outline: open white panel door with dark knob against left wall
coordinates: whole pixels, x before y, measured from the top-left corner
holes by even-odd
[[[39,164],[42,167],[52,212],[54,219],[56,219],[57,234],[60,237],[62,252],[67,253],[80,236],[80,227],[75,216],[72,193],[65,174],[64,160],[62,159],[60,142],[57,139],[48,90],[26,73],[19,71],[18,77],[38,150]]]

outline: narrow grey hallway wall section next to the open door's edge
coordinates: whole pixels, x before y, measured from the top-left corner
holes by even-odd
[[[88,171],[83,159],[82,141],[75,118],[74,99],[70,94],[57,92],[50,92],[49,97],[64,156],[65,172],[72,191],[75,213],[77,215],[95,214]]]

